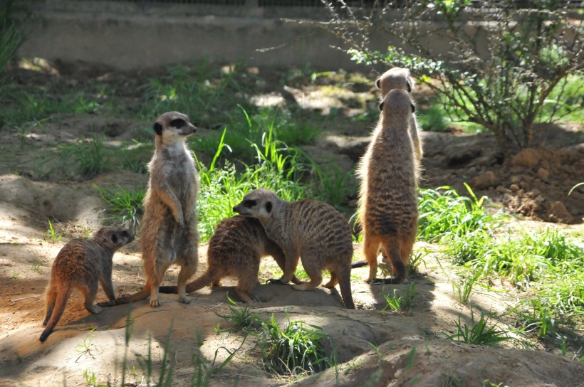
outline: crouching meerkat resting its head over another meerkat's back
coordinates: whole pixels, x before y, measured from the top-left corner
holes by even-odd
[[[322,201],[283,201],[269,189],[256,189],[233,210],[258,219],[268,238],[282,248],[286,257],[284,273],[272,282],[290,282],[300,258],[311,281],[293,285],[293,289],[314,289],[323,281],[322,270],[326,269],[330,281],[324,287],[339,284],[345,307],[355,309],[350,282],[351,230],[333,206]]]

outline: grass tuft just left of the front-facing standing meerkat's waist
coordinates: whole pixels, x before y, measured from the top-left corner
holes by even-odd
[[[144,189],[131,191],[119,185],[105,188],[97,184],[94,184],[93,187],[99,191],[103,201],[108,204],[108,221],[118,223],[136,232],[140,227],[140,220],[144,213],[142,206],[145,196]]]

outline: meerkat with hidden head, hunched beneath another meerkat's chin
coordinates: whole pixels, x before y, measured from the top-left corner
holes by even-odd
[[[236,292],[243,302],[253,303],[251,291],[258,283],[261,258],[271,255],[283,270],[284,252],[273,240],[268,239],[259,221],[244,216],[225,219],[217,225],[207,248],[207,271],[197,280],[187,284],[187,293],[207,285],[219,286],[228,275],[237,277]],[[295,284],[301,283],[296,276]],[[176,293],[176,286],[161,286],[161,293]]]

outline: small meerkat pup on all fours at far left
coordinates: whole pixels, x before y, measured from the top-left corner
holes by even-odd
[[[85,297],[85,309],[101,312],[93,304],[98,294],[98,282],[110,300],[115,299],[112,284],[113,253],[132,242],[134,236],[125,228],[105,227],[91,239],[73,239],[61,248],[51,269],[51,280],[46,287],[46,327],[39,340],[45,342],[65,311],[71,290],[77,288]]]

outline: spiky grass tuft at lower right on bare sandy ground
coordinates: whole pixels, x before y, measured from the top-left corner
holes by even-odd
[[[457,333],[448,336],[448,339],[454,341],[463,341],[466,344],[476,344],[484,346],[496,346],[502,341],[513,340],[513,337],[507,335],[507,332],[498,329],[496,324],[493,327],[487,326],[487,317],[481,312],[479,321],[475,321],[474,312],[471,308],[471,325],[463,324],[458,318]]]

